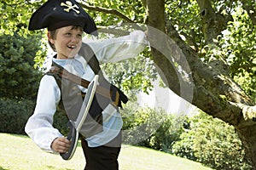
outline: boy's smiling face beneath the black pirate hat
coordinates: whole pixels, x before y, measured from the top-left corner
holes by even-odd
[[[55,31],[55,37],[50,37],[50,34],[48,37],[55,46],[57,59],[72,59],[81,48],[83,31],[79,27],[65,26]]]

